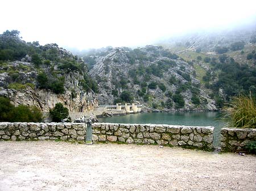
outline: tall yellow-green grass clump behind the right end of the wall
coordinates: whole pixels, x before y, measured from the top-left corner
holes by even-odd
[[[256,128],[256,103],[251,96],[233,97],[223,120],[234,128]]]

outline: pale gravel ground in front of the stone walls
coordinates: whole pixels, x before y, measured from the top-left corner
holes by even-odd
[[[160,148],[0,142],[0,190],[256,190],[256,157]]]

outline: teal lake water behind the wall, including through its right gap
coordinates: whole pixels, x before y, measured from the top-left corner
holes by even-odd
[[[122,124],[214,126],[214,146],[219,145],[220,129],[224,126],[224,122],[220,121],[219,112],[137,113],[98,118],[98,121]]]

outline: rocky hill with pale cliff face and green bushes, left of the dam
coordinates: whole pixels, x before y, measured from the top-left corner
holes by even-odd
[[[44,112],[56,103],[70,112],[92,111],[98,103],[97,86],[84,62],[57,44],[26,43],[18,34],[0,35],[0,96]]]

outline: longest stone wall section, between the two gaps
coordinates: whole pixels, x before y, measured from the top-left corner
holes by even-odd
[[[210,126],[95,123],[92,124],[92,141],[212,149],[213,130]]]

